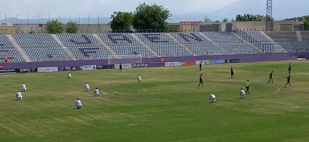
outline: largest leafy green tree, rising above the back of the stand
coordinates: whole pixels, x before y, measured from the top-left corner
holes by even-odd
[[[140,3],[133,14],[133,28],[135,29],[164,29],[170,25],[166,22],[171,17],[171,12],[162,5]]]

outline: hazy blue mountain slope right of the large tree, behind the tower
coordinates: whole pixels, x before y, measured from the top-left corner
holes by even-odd
[[[208,13],[174,14],[168,22],[199,21],[207,15],[213,21],[235,19],[237,14],[266,14],[266,0],[240,0]],[[273,18],[283,20],[309,14],[308,0],[274,0]]]

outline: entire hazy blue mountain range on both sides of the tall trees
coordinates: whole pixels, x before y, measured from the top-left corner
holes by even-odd
[[[207,15],[213,21],[228,18],[235,19],[237,14],[266,14],[266,0],[240,0],[229,5],[226,5],[213,12],[207,13],[184,13],[173,14],[173,17],[167,22],[180,22],[180,21],[200,21]],[[275,20],[283,20],[292,17],[301,17],[309,14],[308,0],[274,0],[273,1],[273,18]],[[57,19],[57,18],[50,18]],[[7,22],[16,23],[16,18],[7,18]],[[71,18],[78,22],[78,18]],[[40,23],[46,23],[48,18],[41,18]],[[69,21],[69,18],[60,18],[62,23]],[[110,17],[100,17],[99,23],[106,24],[110,22]],[[0,22],[5,22],[1,19]],[[27,19],[18,19],[18,23],[28,23]],[[38,23],[37,19],[29,19],[29,23]],[[81,24],[88,24],[88,18],[80,18]],[[98,18],[90,18],[90,24],[98,24]]]

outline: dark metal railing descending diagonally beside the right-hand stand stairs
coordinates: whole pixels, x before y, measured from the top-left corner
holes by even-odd
[[[253,36],[251,36],[250,34],[245,32],[244,30],[242,30],[239,27],[235,26],[234,24],[233,24],[232,31],[235,34],[237,34],[239,37],[243,38],[247,42],[249,42],[249,43],[253,44],[254,46],[256,46],[257,48],[259,48],[262,52],[273,52],[273,50],[274,50],[273,44],[262,43],[261,41],[259,41],[258,39],[254,38]]]

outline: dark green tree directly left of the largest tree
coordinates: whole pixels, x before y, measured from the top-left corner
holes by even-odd
[[[132,26],[133,13],[132,12],[114,12],[111,15],[112,21],[108,23],[112,30],[128,30]]]

